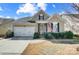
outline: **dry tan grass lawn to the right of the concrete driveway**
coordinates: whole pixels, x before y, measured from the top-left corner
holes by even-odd
[[[79,55],[79,44],[61,44],[51,41],[30,43],[22,55]]]

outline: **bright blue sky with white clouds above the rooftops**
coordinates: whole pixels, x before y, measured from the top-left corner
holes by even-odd
[[[18,19],[33,16],[40,9],[49,15],[77,13],[70,3],[0,3],[0,17]]]

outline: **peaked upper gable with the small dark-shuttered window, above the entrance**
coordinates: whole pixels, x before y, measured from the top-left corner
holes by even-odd
[[[49,15],[46,14],[43,10],[38,11],[32,18],[32,21],[40,20],[39,17],[43,16],[43,19],[41,20],[47,20],[49,18]]]

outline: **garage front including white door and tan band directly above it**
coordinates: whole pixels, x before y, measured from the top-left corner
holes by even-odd
[[[35,33],[35,24],[14,25],[14,36],[33,36],[34,33]]]

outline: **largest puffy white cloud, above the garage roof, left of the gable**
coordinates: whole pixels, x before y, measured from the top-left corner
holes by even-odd
[[[35,12],[36,12],[36,9],[35,9],[34,5],[31,3],[27,3],[27,4],[23,4],[22,6],[20,6],[16,13],[17,14],[29,13],[29,14],[33,15]]]

